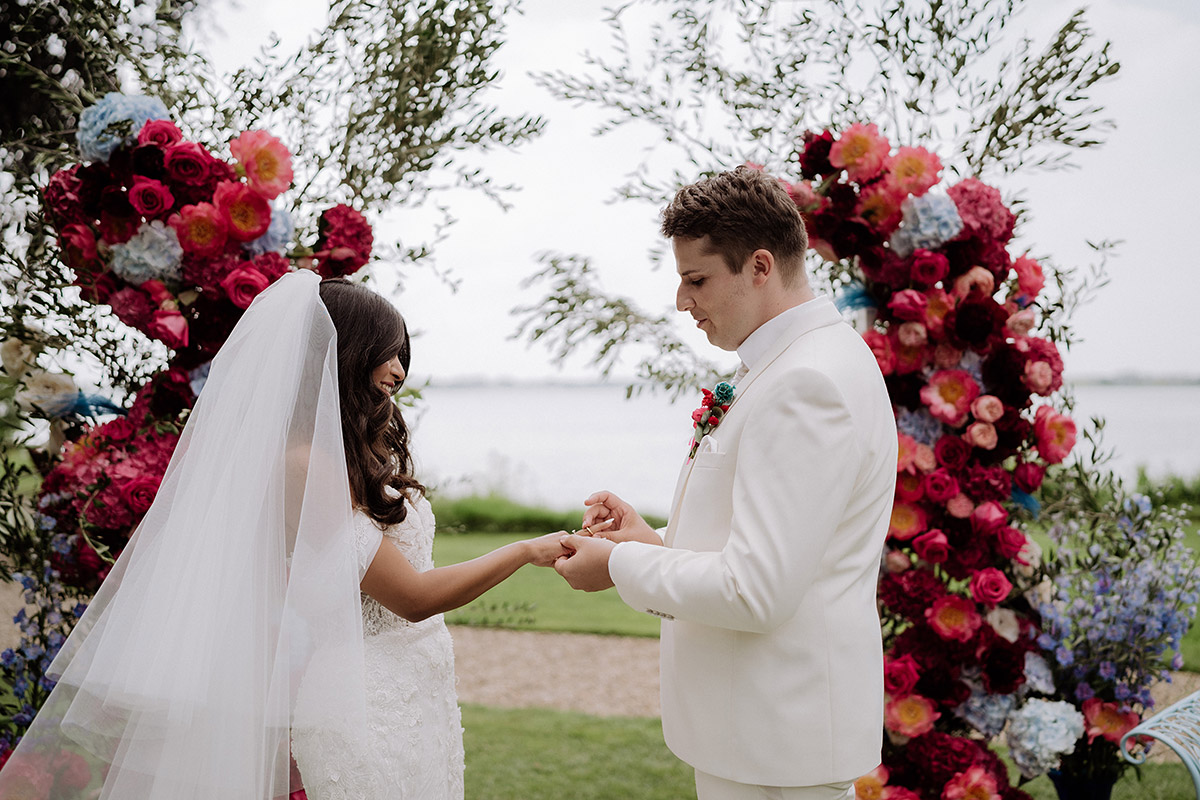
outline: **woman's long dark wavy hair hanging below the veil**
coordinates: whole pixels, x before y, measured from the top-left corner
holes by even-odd
[[[408,426],[400,407],[371,380],[382,363],[400,355],[408,372],[408,326],[388,300],[344,278],[320,282],[320,300],[337,330],[337,391],[350,497],[383,525],[404,519],[404,498],[424,494],[413,476]],[[391,487],[400,494],[389,493]]]

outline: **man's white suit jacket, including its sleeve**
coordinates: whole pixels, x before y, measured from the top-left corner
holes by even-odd
[[[664,619],[667,746],[761,786],[852,781],[882,746],[895,420],[863,338],[827,297],[800,308],[684,465],[666,547],[624,542],[608,564]]]

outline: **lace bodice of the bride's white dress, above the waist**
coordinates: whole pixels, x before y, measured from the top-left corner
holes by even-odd
[[[408,516],[403,522],[383,529],[365,511],[354,511],[354,540],[359,554],[360,577],[366,573],[380,547],[398,549],[418,572],[433,569],[433,507],[424,497],[418,497],[415,503],[407,501],[407,504]],[[392,614],[374,599],[362,595],[364,636],[376,636],[400,628],[424,630],[432,627],[431,624],[440,619],[442,616],[437,615],[421,622],[409,622]]]

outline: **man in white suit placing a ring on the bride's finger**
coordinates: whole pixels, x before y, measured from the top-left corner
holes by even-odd
[[[616,585],[662,622],[662,732],[700,800],[847,800],[880,763],[875,604],[896,474],[876,361],[804,273],[808,236],[782,186],[739,168],[662,213],[676,303],[743,367],[719,426],[684,464],[667,527],[613,494],[556,569]],[[744,374],[743,374],[744,373]]]

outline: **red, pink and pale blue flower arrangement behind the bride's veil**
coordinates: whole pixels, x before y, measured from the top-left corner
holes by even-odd
[[[96,423],[96,398],[40,368],[28,343],[6,341],[0,350],[22,408],[52,423],[67,414],[80,421],[38,464],[36,534],[46,555],[38,575],[20,578],[36,610],[16,619],[22,644],[0,654],[19,706],[0,728],[0,766],[50,688],[41,676],[84,610],[78,601],[96,590],[154,501],[209,361],[244,309],[298,267],[350,275],[373,245],[371,225],[348,205],[320,215],[314,247],[294,242],[280,199],[293,181],[292,156],[265,131],[235,137],[227,160],[185,139],[160,101],[114,92],[80,114],[78,145],[85,163],[52,175],[43,192],[61,258],[84,300],[107,305],[172,354],[127,410],[104,408],[121,415]]]

